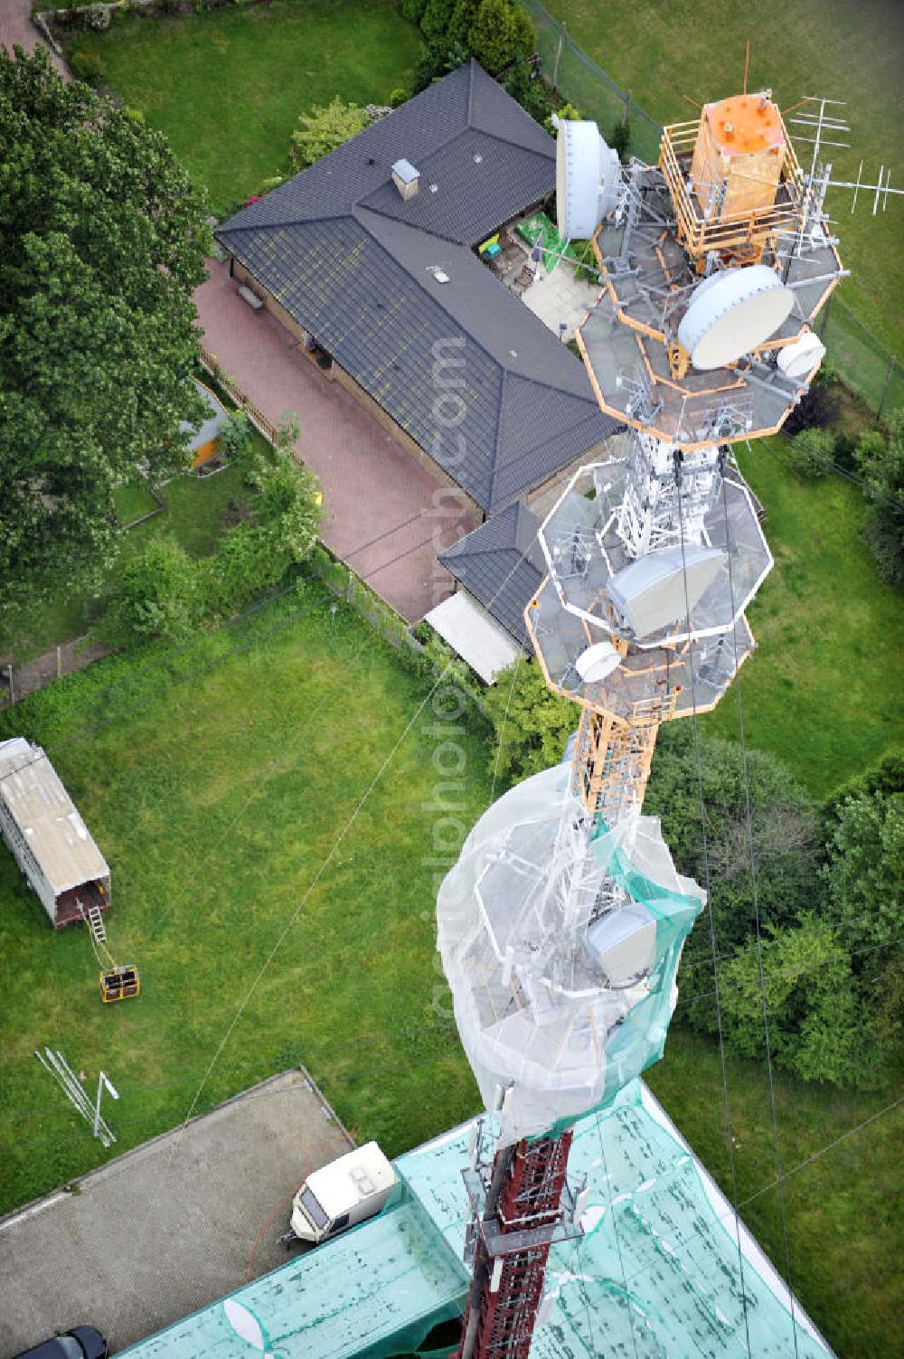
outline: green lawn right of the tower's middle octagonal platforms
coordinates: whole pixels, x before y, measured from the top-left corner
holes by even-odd
[[[775,567],[748,612],[759,650],[701,727],[738,739],[740,692],[746,742],[821,798],[904,742],[901,594],[875,571],[859,487],[797,480],[783,438],[738,461],[767,507]]]

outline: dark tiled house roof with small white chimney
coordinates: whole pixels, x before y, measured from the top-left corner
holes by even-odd
[[[230,272],[485,515],[616,428],[477,247],[555,189],[555,143],[472,61],[216,230]]]

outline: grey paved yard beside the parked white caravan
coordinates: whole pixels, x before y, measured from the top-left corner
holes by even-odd
[[[284,1264],[291,1195],[351,1146],[290,1071],[0,1219],[0,1356],[86,1324],[116,1352]]]

